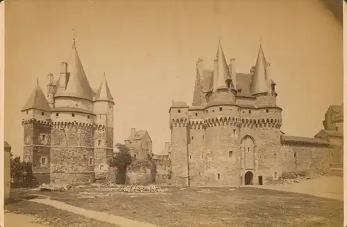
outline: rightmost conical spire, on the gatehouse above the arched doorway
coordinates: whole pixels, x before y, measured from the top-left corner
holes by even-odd
[[[266,59],[264,51],[262,50],[262,44],[260,43],[260,48],[257,56],[257,62],[255,63],[254,73],[252,75],[251,81],[251,93],[252,95],[258,93],[267,93],[266,84]]]

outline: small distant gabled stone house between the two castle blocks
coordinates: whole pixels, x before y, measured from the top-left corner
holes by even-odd
[[[152,156],[152,140],[148,131],[130,130],[130,136],[124,140],[125,145],[130,149],[130,154],[137,160],[148,159]]]

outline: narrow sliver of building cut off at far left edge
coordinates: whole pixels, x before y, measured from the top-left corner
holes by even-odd
[[[11,193],[11,146],[4,141],[3,147],[3,195],[5,201]]]

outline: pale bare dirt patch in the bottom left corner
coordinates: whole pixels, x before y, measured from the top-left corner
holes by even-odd
[[[42,224],[33,223],[37,221],[36,217],[31,215],[18,215],[14,213],[5,213],[5,226],[6,227],[53,227],[53,226],[44,226]]]

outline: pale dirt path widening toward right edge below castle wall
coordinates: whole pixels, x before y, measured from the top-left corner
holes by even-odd
[[[256,185],[255,187],[311,194],[316,197],[344,201],[344,178],[339,176],[321,176],[317,179],[303,180],[298,183],[288,183],[285,185]]]

